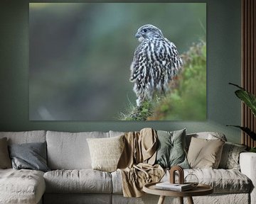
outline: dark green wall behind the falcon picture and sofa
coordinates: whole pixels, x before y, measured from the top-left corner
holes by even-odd
[[[28,120],[28,0],[1,1],[0,6],[0,131],[21,130],[156,130],[187,128],[188,132],[219,131],[240,142],[240,101],[228,82],[240,84],[240,0],[208,0],[208,120],[206,122],[39,122]],[[33,1],[36,2],[36,1]],[[40,1],[38,1],[40,2]],[[51,1],[47,1],[51,2]],[[54,1],[58,2],[58,1]],[[68,2],[68,1],[60,1]],[[80,1],[86,2],[86,1]],[[169,1],[171,2],[171,1]],[[177,1],[174,1],[177,2]],[[194,2],[194,1],[180,1]],[[196,81],[195,81],[196,83]]]

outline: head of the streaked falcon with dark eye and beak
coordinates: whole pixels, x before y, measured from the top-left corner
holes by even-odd
[[[139,42],[142,42],[145,39],[164,38],[164,35],[156,26],[146,24],[138,29],[135,37],[139,38]]]

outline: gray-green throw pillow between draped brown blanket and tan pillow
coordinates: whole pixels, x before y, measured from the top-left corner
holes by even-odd
[[[156,152],[156,164],[163,168],[171,166],[181,166],[189,169],[188,160],[185,153],[186,129],[174,132],[157,131],[159,139]]]

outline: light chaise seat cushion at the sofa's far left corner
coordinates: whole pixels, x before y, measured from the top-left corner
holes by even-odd
[[[38,203],[45,190],[42,171],[0,169],[0,203]]]

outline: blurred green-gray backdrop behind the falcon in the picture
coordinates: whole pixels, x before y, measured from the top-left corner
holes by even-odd
[[[135,104],[129,67],[146,23],[182,54],[206,38],[206,4],[30,3],[29,119],[119,120]]]

